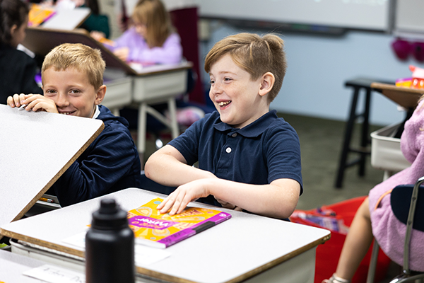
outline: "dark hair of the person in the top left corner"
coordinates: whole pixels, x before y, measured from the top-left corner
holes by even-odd
[[[28,13],[28,4],[22,0],[0,0],[0,43],[11,45],[11,28],[20,28]]]

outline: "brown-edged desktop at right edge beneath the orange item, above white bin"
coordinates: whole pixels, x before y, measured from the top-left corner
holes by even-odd
[[[418,99],[424,94],[423,89],[402,88],[387,83],[371,83],[371,88],[380,91],[384,96],[404,108],[416,108]]]

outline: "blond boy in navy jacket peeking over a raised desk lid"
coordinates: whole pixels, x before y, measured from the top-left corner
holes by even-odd
[[[128,122],[100,105],[106,93],[100,51],[81,44],[55,47],[42,64],[39,94],[15,94],[8,105],[25,110],[100,119],[105,129],[52,185],[61,206],[141,186],[141,163]]]

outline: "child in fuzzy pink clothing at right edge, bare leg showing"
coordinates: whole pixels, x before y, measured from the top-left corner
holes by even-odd
[[[336,273],[323,283],[349,283],[370,248],[373,236],[384,253],[398,265],[404,261],[406,225],[394,216],[390,192],[397,185],[414,184],[424,175],[424,96],[401,136],[401,151],[411,166],[370,190],[359,207],[343,244]],[[411,270],[424,272],[424,232],[413,230],[409,254]]]

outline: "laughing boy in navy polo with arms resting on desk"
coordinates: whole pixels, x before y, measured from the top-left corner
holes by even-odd
[[[302,193],[298,134],[269,105],[286,61],[276,35],[225,37],[206,56],[216,109],[155,152],[145,166],[155,182],[177,186],[160,213],[193,200],[285,219]],[[192,165],[199,161],[199,168]]]

